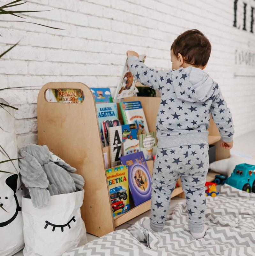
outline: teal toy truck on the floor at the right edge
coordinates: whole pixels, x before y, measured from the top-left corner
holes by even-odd
[[[255,193],[255,165],[236,165],[231,176],[225,181],[225,183],[240,190]]]

